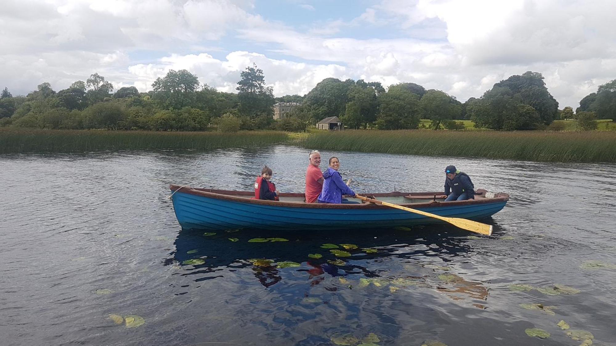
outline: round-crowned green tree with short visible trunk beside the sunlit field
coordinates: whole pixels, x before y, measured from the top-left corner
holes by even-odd
[[[432,129],[440,129],[444,120],[456,119],[462,113],[462,107],[455,99],[440,90],[430,89],[419,100],[421,118],[432,121]]]

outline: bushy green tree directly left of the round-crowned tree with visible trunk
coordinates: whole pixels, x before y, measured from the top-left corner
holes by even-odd
[[[419,95],[401,84],[392,85],[379,96],[376,126],[382,130],[416,129],[419,124]]]

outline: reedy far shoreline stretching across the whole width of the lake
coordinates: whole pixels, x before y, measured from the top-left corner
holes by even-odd
[[[0,128],[0,154],[213,150],[288,144],[309,149],[537,162],[616,163],[616,132],[240,131],[158,132]]]

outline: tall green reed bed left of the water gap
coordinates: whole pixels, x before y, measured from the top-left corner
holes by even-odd
[[[41,130],[0,127],[0,153],[70,153],[103,150],[218,149],[282,143],[282,131],[156,132]]]

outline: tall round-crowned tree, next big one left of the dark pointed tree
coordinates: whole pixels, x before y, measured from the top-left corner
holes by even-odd
[[[188,70],[169,70],[163,78],[156,78],[152,87],[154,98],[163,108],[179,110],[192,106],[199,78]]]

